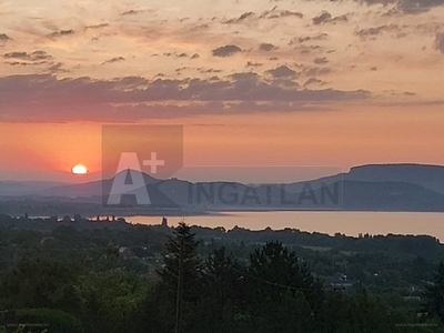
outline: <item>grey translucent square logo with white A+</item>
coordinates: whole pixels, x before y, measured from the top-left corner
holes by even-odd
[[[180,125],[102,127],[102,205],[171,206],[159,190],[183,164]]]

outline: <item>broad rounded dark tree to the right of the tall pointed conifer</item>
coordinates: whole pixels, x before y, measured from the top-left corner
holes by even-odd
[[[256,332],[310,332],[323,291],[307,265],[280,242],[250,255],[248,268],[250,325]]]

